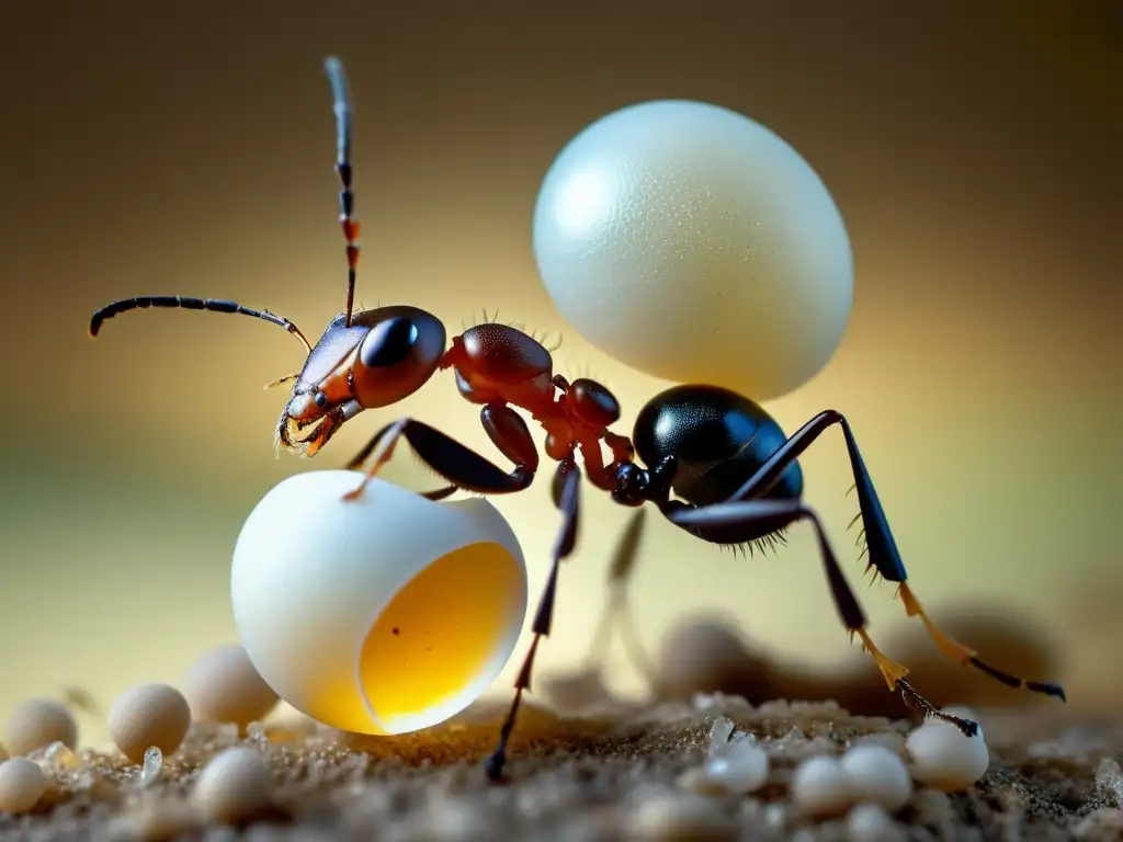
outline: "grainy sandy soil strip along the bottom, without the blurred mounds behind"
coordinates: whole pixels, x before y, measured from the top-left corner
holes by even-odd
[[[0,816],[2,839],[27,840],[846,840],[844,817],[813,822],[791,804],[802,758],[862,740],[898,751],[906,720],[851,716],[833,703],[750,706],[721,694],[654,706],[619,706],[559,719],[528,707],[510,780],[490,785],[481,760],[500,711],[481,707],[402,738],[368,739],[310,722],[252,727],[245,735],[195,725],[159,776],[120,758],[65,749],[37,759],[55,781],[36,813]],[[895,816],[916,840],[1123,839],[1123,727],[1048,713],[979,715],[992,763],[970,790],[917,789]],[[690,791],[714,727],[754,733],[772,757],[751,796]],[[240,827],[207,826],[191,785],[218,750],[264,752],[275,807]]]

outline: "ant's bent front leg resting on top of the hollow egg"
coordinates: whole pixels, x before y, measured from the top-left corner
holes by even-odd
[[[403,418],[380,430],[348,464],[355,468],[369,460],[363,482],[345,495],[357,500],[366,485],[394,455],[398,440],[404,438],[413,451],[435,472],[453,485],[430,492],[430,500],[441,500],[457,488],[477,494],[510,494],[528,488],[538,470],[538,448],[530,437],[527,422],[505,404],[491,403],[480,410],[480,420],[495,447],[512,463],[514,469],[504,472],[471,448],[456,441],[429,424]]]

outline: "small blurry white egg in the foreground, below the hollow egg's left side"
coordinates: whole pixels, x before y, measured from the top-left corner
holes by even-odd
[[[226,749],[203,767],[192,799],[211,821],[234,824],[270,806],[273,772],[256,749]]]

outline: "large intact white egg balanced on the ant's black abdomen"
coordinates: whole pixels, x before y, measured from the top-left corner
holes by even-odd
[[[632,368],[756,400],[842,341],[853,259],[811,165],[718,106],[659,100],[597,120],[550,166],[533,219],[562,315]]]

